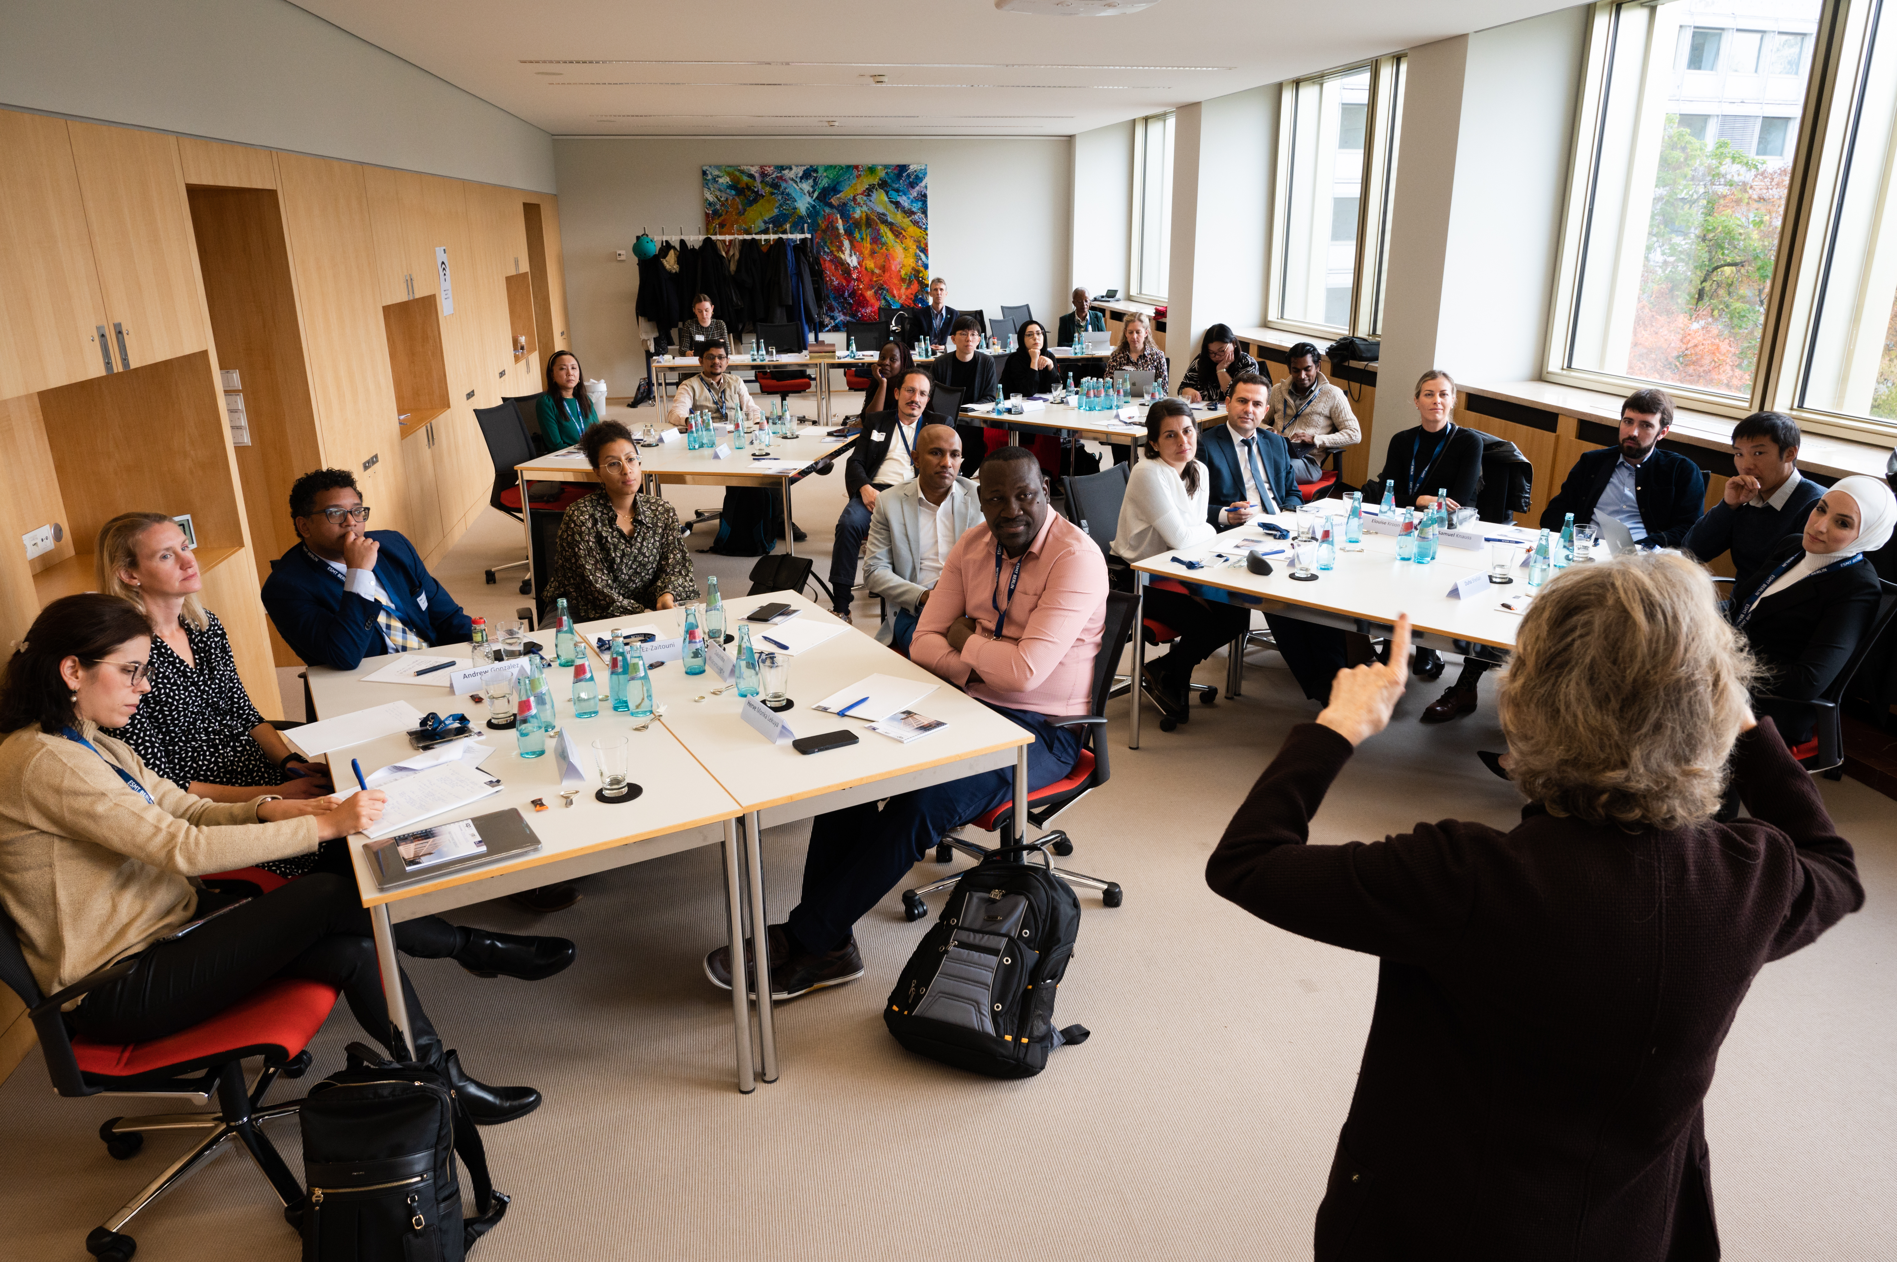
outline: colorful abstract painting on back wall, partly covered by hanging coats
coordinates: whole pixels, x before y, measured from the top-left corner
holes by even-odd
[[[808,232],[829,300],[821,328],[873,321],[924,300],[930,283],[930,169],[706,167],[706,232]]]

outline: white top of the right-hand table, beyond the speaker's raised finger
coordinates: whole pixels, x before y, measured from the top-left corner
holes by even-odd
[[[1341,516],[1343,501],[1318,501],[1334,505],[1328,509]],[[1280,512],[1275,520],[1296,533],[1298,516]],[[1508,533],[1506,526],[1487,526],[1493,533]],[[1341,526],[1339,526],[1341,543]],[[1244,543],[1241,543],[1241,539]],[[1502,600],[1518,600],[1529,594],[1527,571],[1514,569],[1514,583],[1502,586],[1483,586],[1466,600],[1447,596],[1449,585],[1472,573],[1489,569],[1489,552],[1440,547],[1436,560],[1428,566],[1396,560],[1396,537],[1364,531],[1364,550],[1337,550],[1337,567],[1318,571],[1317,581],[1299,583],[1292,579],[1290,541],[1258,541],[1252,526],[1222,531],[1214,541],[1193,548],[1169,548],[1150,556],[1134,569],[1180,583],[1199,583],[1244,596],[1262,596],[1279,605],[1301,605],[1324,613],[1335,613],[1368,622],[1392,624],[1398,613],[1409,615],[1409,624],[1419,632],[1434,632],[1446,640],[1472,640],[1476,643],[1512,647],[1521,615],[1501,607]],[[1244,566],[1246,548],[1286,548],[1282,556],[1273,556],[1273,573],[1254,575]],[[1237,554],[1239,560],[1227,564],[1216,552]],[[1188,560],[1210,560],[1205,569],[1174,566],[1172,556]]]

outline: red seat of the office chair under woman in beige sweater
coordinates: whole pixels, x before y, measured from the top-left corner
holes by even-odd
[[[252,1055],[281,1065],[309,1046],[332,1008],[336,987],[279,977],[188,1030],[137,1044],[74,1038],[72,1055],[82,1072],[101,1078],[188,1072]]]

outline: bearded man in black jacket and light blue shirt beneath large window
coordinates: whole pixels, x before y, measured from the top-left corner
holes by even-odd
[[[1705,474],[1685,455],[1662,452],[1673,427],[1666,391],[1641,389],[1620,404],[1620,446],[1588,452],[1575,461],[1561,493],[1542,510],[1542,526],[1561,529],[1569,512],[1576,524],[1595,512],[1618,520],[1647,548],[1677,548],[1700,520]]]

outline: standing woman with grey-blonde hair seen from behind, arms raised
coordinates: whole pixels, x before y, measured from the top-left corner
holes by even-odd
[[[1307,844],[1404,693],[1337,674],[1252,786],[1206,882],[1381,956],[1317,1258],[1719,1256],[1704,1101],[1766,962],[1863,903],[1851,846],[1770,719],[1713,583],[1673,552],[1571,567],[1501,683],[1512,829]],[[1749,820],[1713,818],[1730,780]]]

